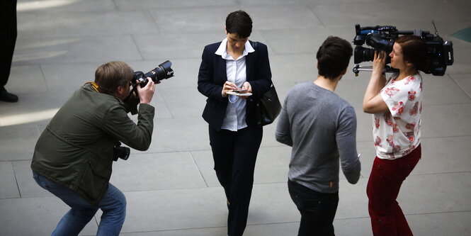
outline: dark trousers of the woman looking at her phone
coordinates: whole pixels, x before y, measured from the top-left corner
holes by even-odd
[[[217,179],[229,201],[227,233],[244,233],[254,184],[257,153],[263,135],[261,127],[247,127],[237,132],[209,128],[212,157]]]

